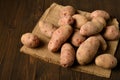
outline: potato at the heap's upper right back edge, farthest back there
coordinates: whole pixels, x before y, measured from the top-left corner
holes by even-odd
[[[91,18],[94,17],[103,17],[104,19],[109,19],[110,15],[104,10],[95,10],[91,13]]]

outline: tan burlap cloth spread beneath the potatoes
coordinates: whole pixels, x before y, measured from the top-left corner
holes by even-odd
[[[59,12],[60,12],[61,7],[63,6],[53,3],[45,11],[45,13],[43,14],[40,20],[50,22],[57,26],[57,22],[59,19]],[[78,10],[78,12],[89,18],[90,13],[80,11],[80,10]],[[116,24],[118,26],[118,22],[116,19],[113,19],[113,21],[110,24]],[[40,45],[39,48],[35,48],[35,49],[31,49],[31,48],[27,48],[23,46],[20,51],[26,54],[29,54],[31,56],[37,57],[46,62],[59,65],[59,59],[60,59],[59,53],[52,53],[48,51],[47,44],[48,44],[49,38],[45,37],[43,34],[40,33],[38,24],[35,26],[32,33],[36,34],[41,39],[42,44]],[[116,48],[117,48],[118,41],[110,41],[108,42],[108,44],[109,44],[109,50],[107,50],[107,52],[110,52],[111,54],[114,55]],[[96,66],[94,63],[91,65],[87,65],[87,66],[75,65],[71,67],[71,69],[75,71],[81,71],[81,72],[85,72],[89,74],[94,74],[94,75],[101,76],[101,77],[106,77],[106,78],[109,78],[111,74],[111,70],[100,68]]]

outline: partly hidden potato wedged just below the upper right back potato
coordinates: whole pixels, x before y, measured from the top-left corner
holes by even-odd
[[[103,17],[94,17],[92,22],[94,22],[97,26],[106,27],[106,21]]]

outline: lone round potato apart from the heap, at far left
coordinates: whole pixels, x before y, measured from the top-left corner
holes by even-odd
[[[21,42],[30,48],[34,48],[39,46],[40,44],[40,40],[38,38],[38,36],[32,34],[32,33],[25,33],[22,35],[21,37]]]

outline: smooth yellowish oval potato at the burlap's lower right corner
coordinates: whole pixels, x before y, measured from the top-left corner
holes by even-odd
[[[112,69],[117,65],[117,59],[111,54],[104,53],[96,57],[95,64],[102,68]]]

